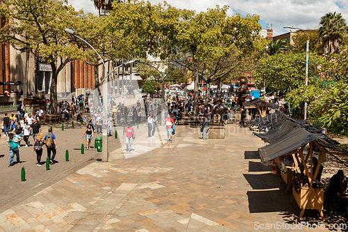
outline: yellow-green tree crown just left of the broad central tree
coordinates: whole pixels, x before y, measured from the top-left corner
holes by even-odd
[[[179,17],[179,10],[167,3],[113,3],[106,30],[118,33],[118,40],[125,42],[124,47],[132,56],[145,59],[152,55],[165,60],[175,49],[174,31]]]

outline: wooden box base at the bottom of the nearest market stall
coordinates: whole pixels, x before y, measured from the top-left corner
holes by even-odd
[[[292,195],[299,205],[299,208],[306,210],[322,210],[324,204],[324,189],[313,189],[310,196],[308,195],[309,187],[301,187],[301,191],[297,193],[294,188],[292,188]],[[308,200],[307,206],[304,203]],[[305,208],[306,207],[306,208]]]

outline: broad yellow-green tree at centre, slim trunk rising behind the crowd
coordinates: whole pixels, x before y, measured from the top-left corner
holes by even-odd
[[[223,8],[216,6],[214,9],[208,9],[206,13],[198,14],[191,10],[182,10],[182,20],[177,22],[175,36],[177,51],[182,53],[182,57],[191,56],[191,59],[177,59],[177,61],[193,73],[195,116],[198,115],[199,77],[207,68],[205,63],[215,61],[216,66],[221,67],[224,59],[253,52],[257,44],[255,41],[260,38],[258,33],[261,26],[258,24],[257,15],[241,17],[237,14],[228,17],[227,10],[227,6]]]

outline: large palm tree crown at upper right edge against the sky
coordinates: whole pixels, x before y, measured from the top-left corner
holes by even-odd
[[[319,38],[322,40],[323,54],[338,53],[342,38],[347,33],[346,22],[339,13],[326,13],[320,18]]]

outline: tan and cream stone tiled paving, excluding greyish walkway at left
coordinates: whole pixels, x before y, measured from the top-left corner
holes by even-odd
[[[244,159],[263,143],[228,127],[239,134],[200,141],[197,128],[179,126],[162,147],[137,139],[134,148],[153,150],[89,164],[2,212],[0,231],[253,231],[254,222],[285,222],[279,205],[290,215],[298,208],[271,170],[249,170]]]

